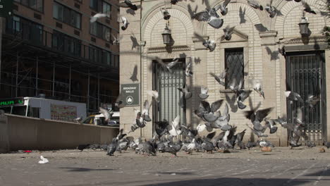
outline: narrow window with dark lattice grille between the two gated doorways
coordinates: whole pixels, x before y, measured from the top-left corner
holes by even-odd
[[[236,85],[243,80],[242,88],[244,88],[244,56],[243,48],[238,49],[226,49],[225,50],[225,68],[228,68],[228,74],[226,77],[226,89],[229,85],[236,80]]]

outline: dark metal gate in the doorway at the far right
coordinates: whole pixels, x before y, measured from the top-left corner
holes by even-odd
[[[322,144],[326,135],[326,82],[324,51],[288,53],[286,57],[286,80],[288,89],[300,94],[304,101],[308,95],[319,95],[320,101],[310,108],[308,104],[287,101],[288,123],[293,122],[298,107],[302,107],[302,120],[305,121],[305,132],[308,140]],[[305,139],[301,139],[304,144]]]

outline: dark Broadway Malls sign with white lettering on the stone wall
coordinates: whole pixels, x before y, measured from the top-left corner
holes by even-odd
[[[125,106],[140,105],[140,84],[122,84],[121,95]]]

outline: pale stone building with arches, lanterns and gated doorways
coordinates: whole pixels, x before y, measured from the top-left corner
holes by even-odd
[[[147,90],[159,90],[159,104],[150,109],[152,120],[172,120],[177,114],[181,115],[181,122],[196,127],[203,123],[193,112],[200,104],[197,96],[200,87],[209,88],[207,101],[212,103],[218,99],[225,99],[230,106],[231,125],[238,127],[238,132],[247,128],[246,123],[252,126],[250,120],[243,115],[243,111],[254,108],[265,109],[274,107],[270,113],[271,118],[287,116],[288,122],[293,121],[295,107],[297,104],[288,104],[284,91],[288,87],[302,95],[303,99],[308,94],[319,94],[321,101],[314,107],[303,110],[304,120],[307,123],[307,134],[310,140],[321,144],[322,140],[329,140],[330,113],[327,108],[326,97],[329,92],[330,51],[326,43],[322,29],[329,25],[326,13],[325,0],[306,0],[317,14],[305,13],[309,23],[307,36],[300,34],[300,23],[302,21],[301,2],[274,0],[273,6],[279,11],[274,18],[264,7],[269,1],[259,1],[263,11],[252,8],[246,0],[231,0],[228,4],[224,25],[220,29],[214,29],[207,22],[198,22],[190,18],[190,10],[196,12],[204,11],[207,7],[214,7],[224,1],[179,1],[173,5],[169,0],[145,0],[133,1],[138,5],[138,11],[130,11],[121,8],[121,16],[128,18],[127,30],[121,30],[123,40],[120,46],[120,84],[133,83],[130,75],[133,68],[138,67],[138,81],[140,83],[140,104],[138,106],[126,106],[121,109],[121,128],[130,130],[135,120],[133,109],[142,109],[146,99],[152,100]],[[164,20],[161,8],[166,8],[171,14],[169,20]],[[166,24],[171,30],[172,44],[164,44],[162,33]],[[223,28],[227,25],[235,26],[230,40],[224,39]],[[216,49],[210,52],[206,49],[194,32],[202,35],[204,39],[212,39],[216,42]],[[137,41],[138,44],[136,42]],[[135,44],[134,44],[135,43]],[[278,54],[279,46],[284,46],[285,55]],[[136,51],[124,53],[125,51]],[[140,52],[142,55],[140,55]],[[174,68],[173,73],[164,73],[159,70],[153,56],[171,61],[180,58],[181,63]],[[184,73],[185,64],[192,61],[193,76],[186,77]],[[244,78],[244,89],[252,89],[249,80],[258,80],[262,83],[265,98],[253,91],[249,99],[245,100],[247,107],[240,110],[236,106],[236,96],[226,86],[219,85],[209,73],[221,73],[226,67],[231,74],[241,75]],[[176,89],[182,87],[184,82],[193,92],[193,97],[186,101],[185,109],[178,106],[180,93]],[[287,82],[287,83],[286,83]],[[221,106],[221,111],[224,109]],[[259,106],[259,107],[258,107]],[[302,105],[300,105],[302,106]],[[288,134],[286,129],[278,126],[274,134],[269,135],[267,140],[277,145],[286,146]],[[146,139],[152,137],[154,124],[147,123],[145,128],[135,130],[131,133],[138,137],[142,135]],[[245,140],[248,140],[251,132],[247,129]]]

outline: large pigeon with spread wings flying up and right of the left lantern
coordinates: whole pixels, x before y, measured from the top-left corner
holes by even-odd
[[[216,11],[219,10],[219,8],[222,7],[221,5],[215,6],[214,8],[211,8],[211,10],[205,10],[199,13],[196,13],[192,16],[193,19],[198,21],[207,21],[207,23],[216,28],[219,29],[224,25],[224,20],[219,18],[218,13]]]

